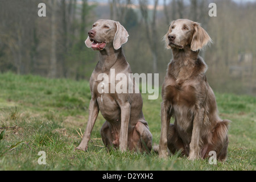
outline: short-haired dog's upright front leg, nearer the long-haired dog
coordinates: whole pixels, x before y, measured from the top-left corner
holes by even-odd
[[[119,150],[126,151],[128,145],[128,127],[130,122],[131,105],[129,102],[121,107],[121,131],[119,138]]]

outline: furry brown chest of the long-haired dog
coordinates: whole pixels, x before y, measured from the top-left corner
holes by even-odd
[[[168,67],[168,75],[164,81],[164,99],[171,104],[193,107],[204,99],[205,71],[207,65],[199,58],[195,63],[187,65],[173,60]]]

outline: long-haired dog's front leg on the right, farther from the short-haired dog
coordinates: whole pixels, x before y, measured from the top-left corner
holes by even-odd
[[[200,136],[201,136],[201,127],[204,120],[204,109],[200,108],[195,113],[195,118],[193,120],[193,130],[191,142],[189,144],[189,160],[199,159],[200,158]]]

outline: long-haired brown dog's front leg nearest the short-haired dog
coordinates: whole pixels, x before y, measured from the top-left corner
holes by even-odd
[[[160,158],[167,158],[167,131],[170,125],[170,115],[168,114],[168,106],[162,102],[161,104],[161,136],[159,142],[158,154]]]

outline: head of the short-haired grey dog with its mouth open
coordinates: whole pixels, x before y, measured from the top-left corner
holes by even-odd
[[[121,48],[128,40],[128,32],[119,22],[108,19],[100,19],[93,23],[88,32],[85,44],[88,48],[102,51],[106,47],[113,46],[114,49]]]

